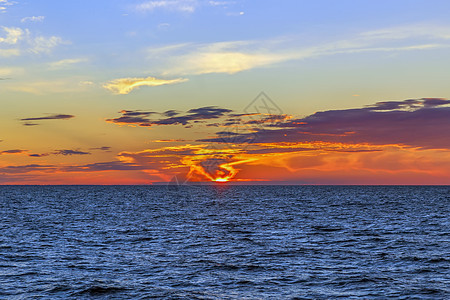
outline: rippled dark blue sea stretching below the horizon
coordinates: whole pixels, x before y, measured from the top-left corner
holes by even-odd
[[[0,299],[449,299],[449,191],[0,186]]]

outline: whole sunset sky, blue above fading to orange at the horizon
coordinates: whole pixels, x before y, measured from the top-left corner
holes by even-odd
[[[0,184],[450,184],[449,11],[0,0]]]

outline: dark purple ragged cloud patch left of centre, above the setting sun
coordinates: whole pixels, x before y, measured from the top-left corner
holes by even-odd
[[[133,125],[141,127],[150,127],[154,125],[183,125],[187,126],[191,122],[200,122],[206,120],[218,119],[232,112],[230,109],[219,108],[216,106],[206,106],[188,110],[185,114],[180,115],[174,110],[166,111],[162,114],[151,111],[133,111],[122,110],[122,116],[113,119],[107,119],[106,122],[119,125]],[[163,115],[164,118],[150,119],[151,115]]]

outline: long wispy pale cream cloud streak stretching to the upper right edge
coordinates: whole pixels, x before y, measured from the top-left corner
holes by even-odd
[[[307,45],[295,37],[152,47],[148,59],[163,75],[235,74],[288,61],[367,52],[427,51],[449,48],[450,28],[416,25],[413,29],[368,31],[347,39]]]

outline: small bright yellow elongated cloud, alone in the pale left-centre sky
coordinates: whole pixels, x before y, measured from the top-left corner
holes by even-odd
[[[129,94],[135,88],[140,86],[160,86],[167,84],[175,84],[186,82],[188,79],[177,78],[177,79],[158,79],[155,77],[147,78],[120,78],[112,80],[103,85],[103,87],[114,94]]]

